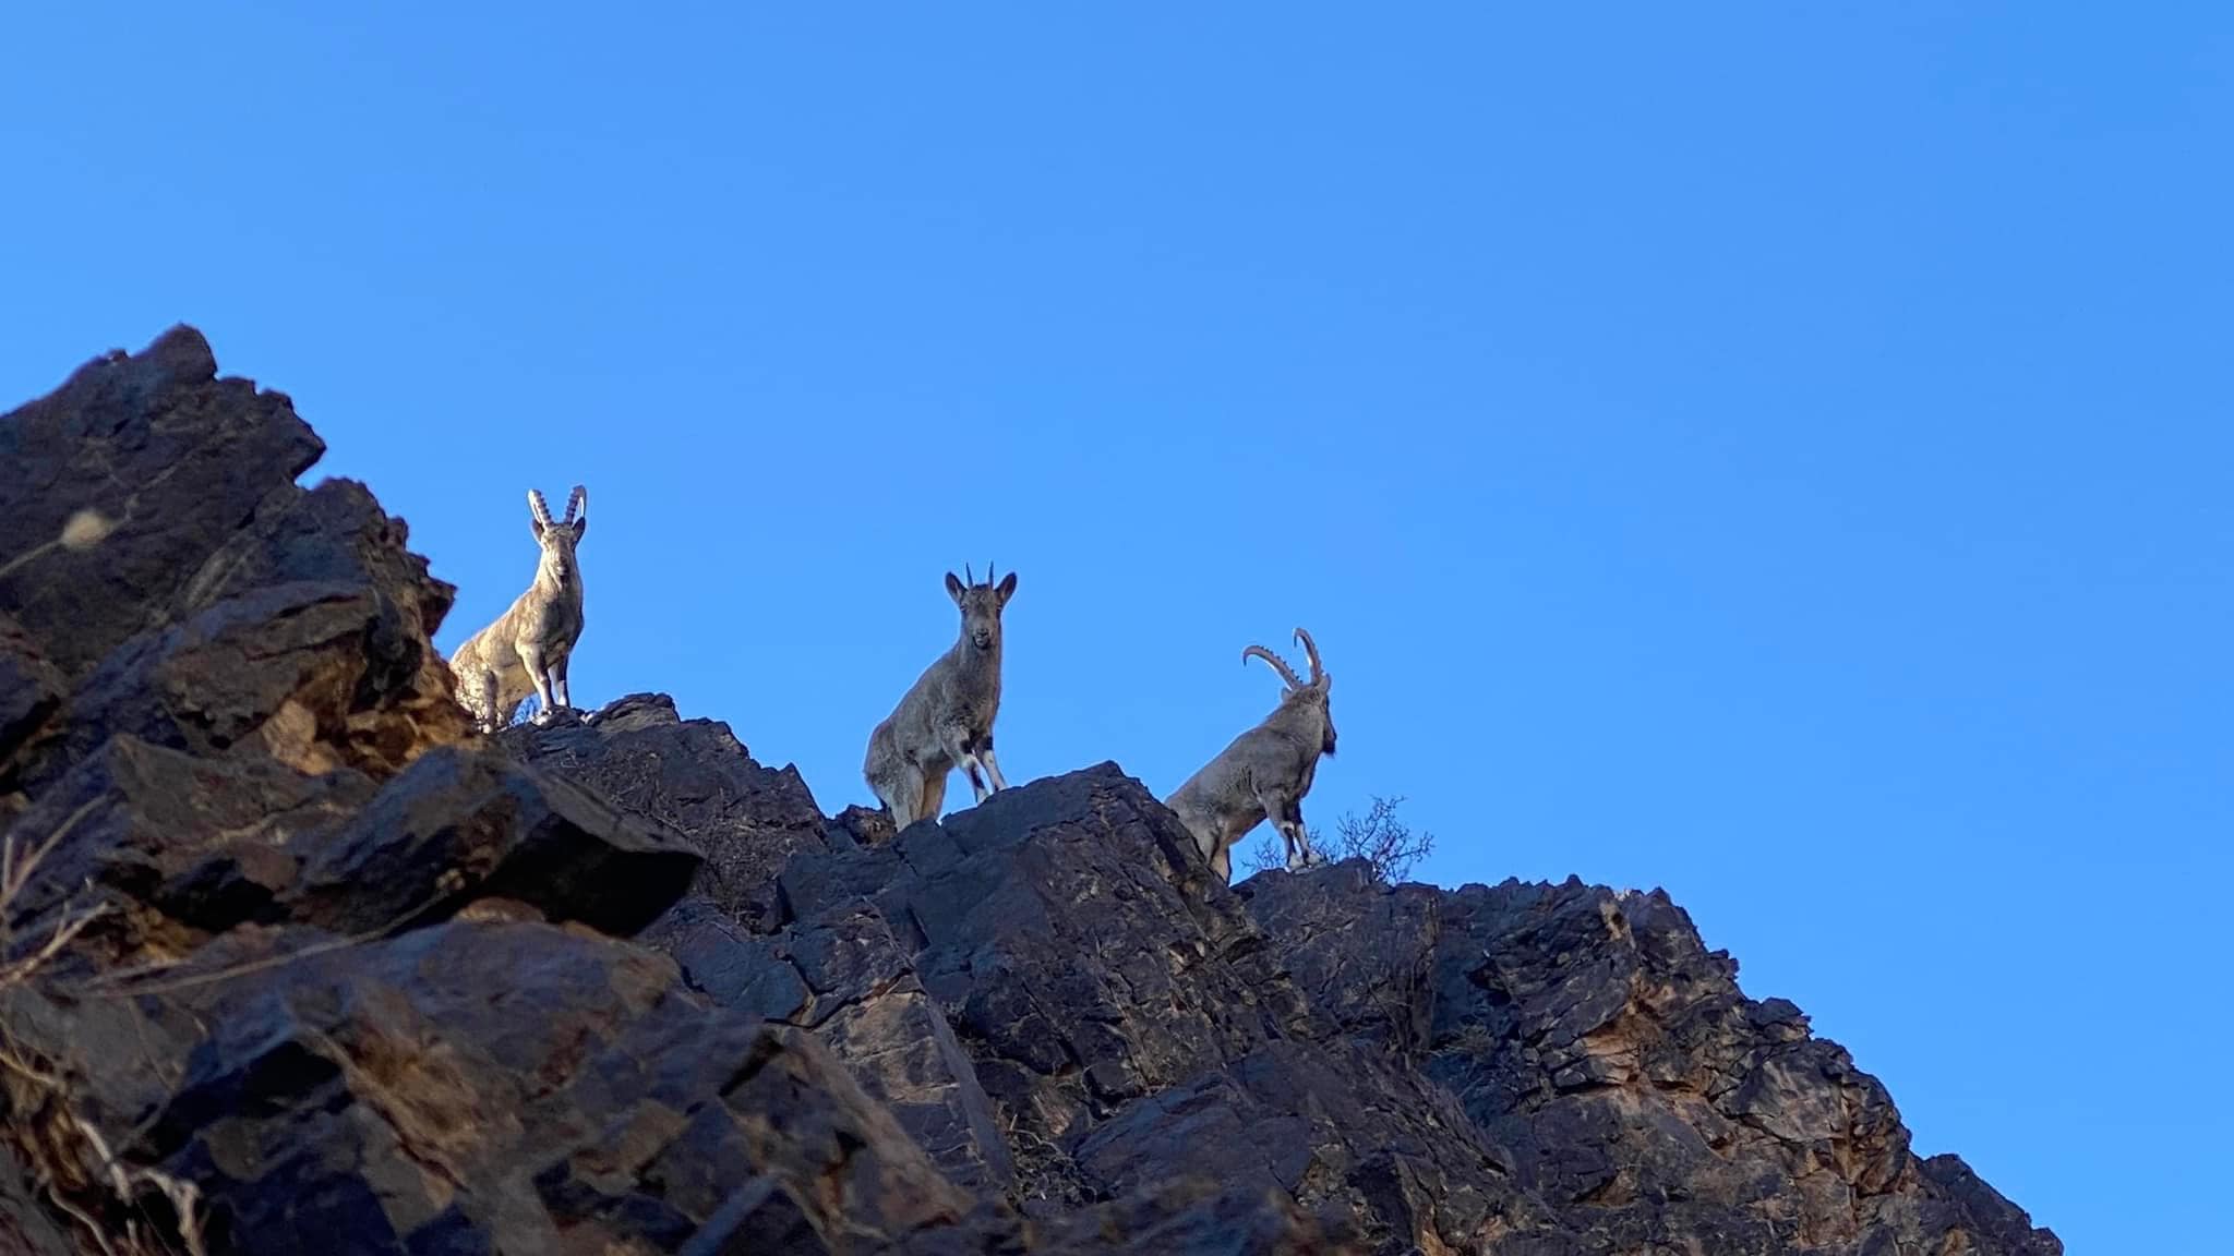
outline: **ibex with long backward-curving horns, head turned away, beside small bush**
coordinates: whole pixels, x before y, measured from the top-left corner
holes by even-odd
[[[1258,657],[1280,673],[1287,686],[1280,691],[1280,706],[1262,724],[1233,738],[1218,758],[1202,764],[1202,771],[1164,800],[1180,813],[1180,822],[1202,847],[1202,858],[1222,881],[1233,881],[1233,843],[1264,818],[1271,818],[1287,843],[1289,872],[1327,863],[1302,827],[1302,796],[1318,776],[1318,755],[1334,753],[1334,715],[1327,711],[1334,677],[1318,664],[1318,644],[1311,635],[1296,628],[1296,639],[1311,657],[1311,679],[1296,679],[1296,670],[1264,646],[1242,650],[1242,664]]]

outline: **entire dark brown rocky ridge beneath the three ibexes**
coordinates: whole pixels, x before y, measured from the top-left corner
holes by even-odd
[[[1660,894],[474,738],[317,454],[188,329],[0,418],[0,1252],[2062,1249]]]

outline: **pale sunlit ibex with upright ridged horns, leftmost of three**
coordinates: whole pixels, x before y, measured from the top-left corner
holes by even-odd
[[[543,494],[527,489],[527,525],[543,556],[536,579],[512,610],[474,632],[449,657],[458,675],[458,704],[471,711],[483,733],[494,733],[512,720],[529,693],[543,704],[536,724],[547,724],[565,711],[574,695],[567,688],[567,659],[581,639],[581,563],[574,545],[590,530],[590,489],[574,485],[565,518],[552,521]]]

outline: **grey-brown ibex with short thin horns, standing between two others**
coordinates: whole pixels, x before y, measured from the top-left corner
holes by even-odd
[[[970,574],[970,568],[963,568]],[[992,720],[1001,711],[1001,608],[1016,594],[1016,572],[999,586],[992,565],[985,583],[954,579],[947,597],[963,612],[963,635],[954,648],[923,668],[900,706],[869,733],[862,776],[900,831],[916,820],[936,820],[947,800],[947,773],[961,767],[983,802],[1008,789],[992,758]]]

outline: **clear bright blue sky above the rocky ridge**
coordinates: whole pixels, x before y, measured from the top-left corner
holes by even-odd
[[[583,480],[576,702],[827,809],[965,561],[1012,782],[1309,626],[1314,820],[1664,885],[2073,1252],[2221,1220],[2225,9],[311,9],[0,18],[0,407],[201,326],[445,648]]]

